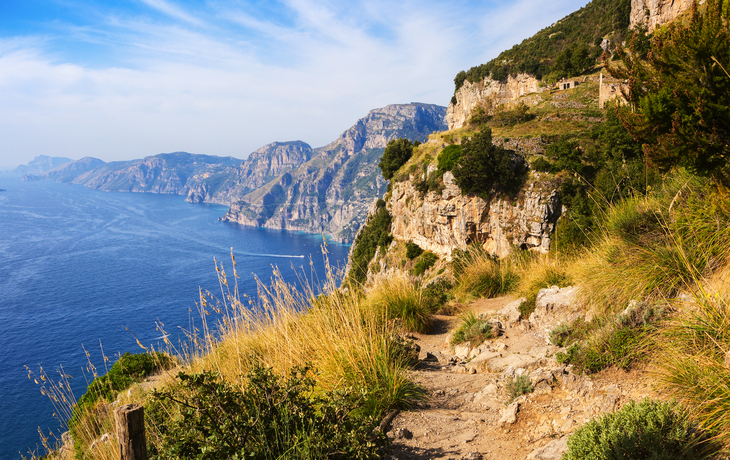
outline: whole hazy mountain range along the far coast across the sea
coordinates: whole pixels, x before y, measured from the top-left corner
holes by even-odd
[[[107,191],[184,195],[194,203],[230,206],[224,220],[231,222],[351,241],[369,205],[385,192],[377,164],[388,141],[423,141],[446,129],[445,114],[445,107],[431,104],[389,105],[317,149],[302,141],[274,142],[245,161],[166,153],[106,163],[72,182]],[[69,181],[68,172],[39,178]]]

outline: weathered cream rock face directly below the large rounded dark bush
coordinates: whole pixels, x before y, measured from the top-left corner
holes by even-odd
[[[462,195],[451,172],[444,173],[440,194],[421,196],[411,181],[399,182],[388,201],[391,233],[439,256],[450,256],[471,243],[498,256],[509,254],[513,247],[547,252],[561,206],[557,184],[543,176],[532,173],[514,199],[489,201]]]

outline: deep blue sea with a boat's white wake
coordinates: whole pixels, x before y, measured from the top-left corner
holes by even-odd
[[[272,265],[295,282],[291,265],[309,275],[311,256],[322,273],[321,236],[218,222],[221,206],[8,174],[0,188],[0,459],[35,447],[39,426],[59,426],[24,365],[63,365],[80,396],[82,345],[103,369],[100,340],[107,356],[142,351],[131,334],[161,345],[157,320],[179,338],[190,310],[197,316],[198,287],[218,289],[213,258],[230,268],[231,247],[249,295],[253,273],[268,280]],[[328,249],[333,264],[344,262],[348,247]]]

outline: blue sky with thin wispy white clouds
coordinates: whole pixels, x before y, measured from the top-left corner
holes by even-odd
[[[587,0],[0,0],[0,169],[37,155],[246,158],[388,104],[448,105]]]

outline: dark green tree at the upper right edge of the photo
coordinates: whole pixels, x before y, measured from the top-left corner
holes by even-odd
[[[630,52],[618,48],[624,66],[609,71],[629,80],[634,112],[622,112],[622,121],[649,160],[664,170],[683,166],[728,185],[730,28],[723,18],[725,3],[708,0],[705,14],[693,4],[689,24],[674,23],[654,38],[649,65],[638,58],[637,34]]]

